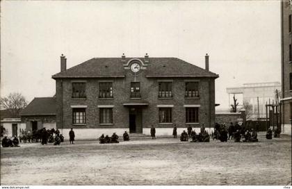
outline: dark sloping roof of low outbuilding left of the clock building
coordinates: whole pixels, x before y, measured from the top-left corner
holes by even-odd
[[[20,112],[20,115],[56,115],[56,98],[34,98],[33,101]]]

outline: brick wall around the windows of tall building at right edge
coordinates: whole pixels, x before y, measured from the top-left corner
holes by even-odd
[[[292,67],[289,58],[289,44],[291,44],[291,33],[289,33],[289,15],[292,14],[291,4],[289,1],[282,1],[282,98],[292,97],[290,90],[290,76]],[[291,101],[282,101],[282,127],[291,134]],[[282,129],[283,130],[283,129]]]

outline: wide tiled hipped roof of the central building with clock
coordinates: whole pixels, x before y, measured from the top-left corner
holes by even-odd
[[[126,58],[127,63],[132,58]],[[143,61],[145,58],[138,58]],[[71,67],[65,72],[52,76],[58,78],[98,78],[124,77],[125,70],[121,58],[92,58],[84,63]],[[201,67],[187,63],[179,58],[149,58],[146,77],[218,77],[218,74],[206,71]]]

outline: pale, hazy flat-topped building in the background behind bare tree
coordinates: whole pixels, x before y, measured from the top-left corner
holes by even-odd
[[[231,107],[231,104],[233,104],[233,95],[241,94],[242,101],[238,101],[238,108],[243,108],[243,103],[245,102],[252,106],[247,119],[266,119],[266,104],[269,102],[270,104],[276,103],[277,96],[280,97],[280,91],[281,83],[279,82],[245,83],[240,88],[227,88],[229,106]]]

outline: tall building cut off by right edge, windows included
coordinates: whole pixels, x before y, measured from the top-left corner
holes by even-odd
[[[281,2],[282,34],[282,99],[281,122],[282,132],[291,134],[292,117],[292,5],[291,1]]]

